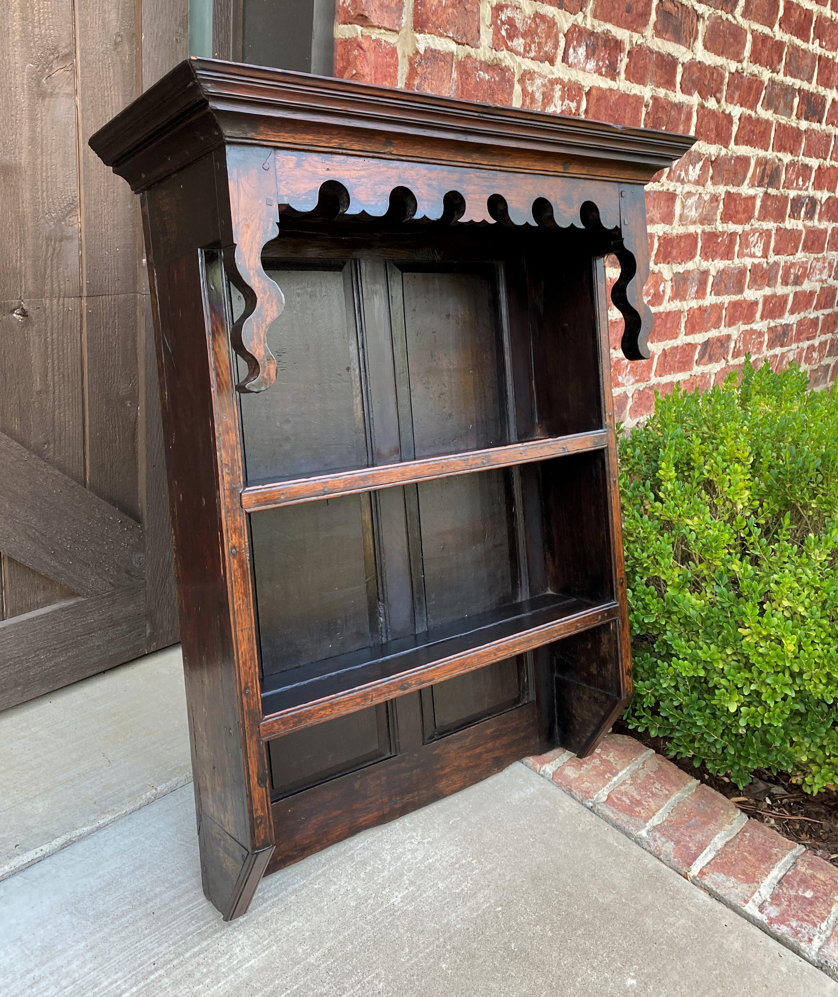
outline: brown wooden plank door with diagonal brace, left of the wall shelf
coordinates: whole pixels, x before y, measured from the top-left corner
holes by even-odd
[[[185,56],[186,8],[0,14],[0,709],[177,639],[139,207],[87,142]]]

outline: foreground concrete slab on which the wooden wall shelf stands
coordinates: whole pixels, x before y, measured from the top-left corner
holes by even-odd
[[[838,997],[516,764],[276,873],[223,924],[191,788],[0,882],[4,997]]]

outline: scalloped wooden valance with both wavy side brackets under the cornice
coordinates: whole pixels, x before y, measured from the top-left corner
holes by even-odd
[[[392,187],[393,166],[386,160],[228,149],[235,227],[224,261],[245,301],[232,329],[233,349],[247,364],[239,391],[265,391],[276,379],[267,333],[285,299],[262,268],[261,254],[279,232],[283,208],[329,218],[365,215],[397,224],[494,222],[587,230],[601,238],[603,254],[614,253],[620,263],[612,301],[625,319],[623,353],[629,360],[649,356],[652,313],[643,300],[649,251],[641,184],[537,173],[517,173],[512,184],[509,173],[496,170],[420,163],[402,163],[399,170],[403,182]]]

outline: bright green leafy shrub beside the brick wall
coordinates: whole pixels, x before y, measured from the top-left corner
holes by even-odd
[[[746,362],[620,440],[629,726],[743,786],[838,784],[838,389]]]

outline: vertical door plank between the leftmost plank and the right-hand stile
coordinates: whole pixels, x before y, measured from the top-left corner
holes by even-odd
[[[87,485],[140,518],[138,205],[88,145],[136,96],[134,0],[77,4]]]

